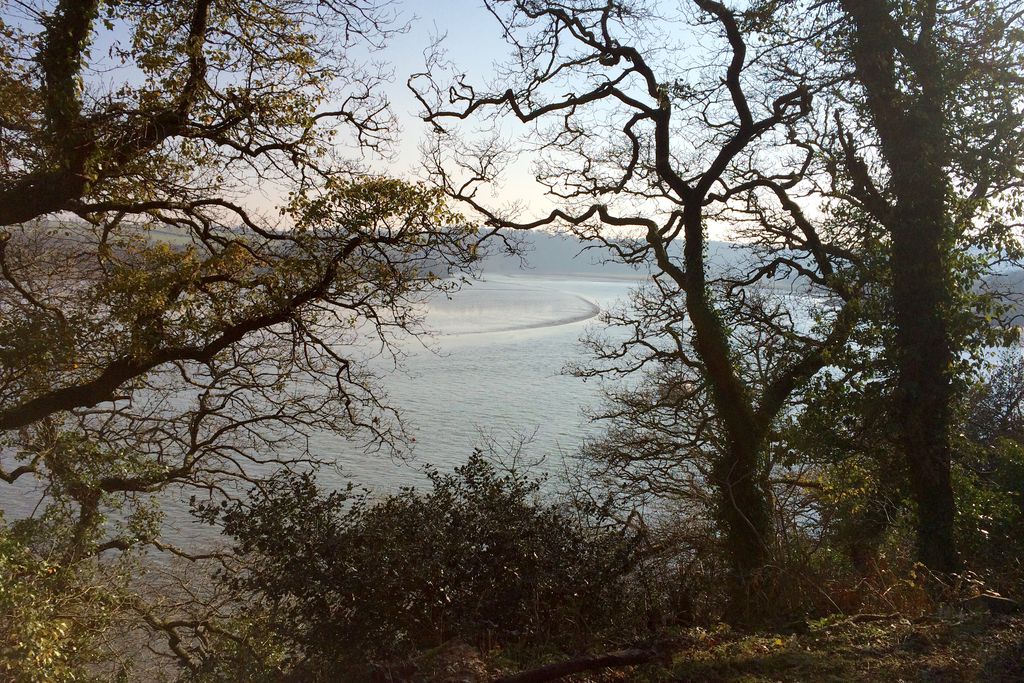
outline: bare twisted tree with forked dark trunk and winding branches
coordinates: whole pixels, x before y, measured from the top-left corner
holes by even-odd
[[[799,75],[764,83],[766,54],[751,47],[740,16],[718,2],[698,0],[691,20],[674,25],[680,32],[689,25],[690,40],[719,41],[718,51],[689,53],[665,47],[671,35],[640,3],[487,7],[513,46],[501,85],[480,91],[459,76],[440,84],[439,60],[432,74],[410,82],[438,131],[431,168],[488,225],[568,226],[617,258],[651,264],[662,301],[638,313],[629,341],[605,357],[624,371],[659,364],[695,372],[697,388],[673,395],[706,399],[721,430],[710,481],[732,567],[733,616],[743,621],[745,610],[758,609],[751,593],[771,564],[769,435],[794,393],[846,340],[861,296],[857,232],[844,226],[829,233],[799,201],[813,189],[805,183],[813,151],[798,134],[812,92]],[[462,120],[505,115],[551,153],[537,177],[563,206],[546,216],[521,218],[488,206],[479,193],[515,159],[516,142],[460,146],[454,134]],[[745,233],[763,258],[738,276],[716,276],[708,228],[730,219],[754,226]],[[642,237],[617,242],[602,232],[607,228]],[[680,241],[681,258],[674,251]],[[811,334],[784,310],[772,313],[772,305],[744,296],[745,288],[786,276],[824,299]],[[759,331],[784,351],[769,358],[751,349]],[[755,355],[744,355],[749,350]],[[755,379],[752,366],[765,374]]]

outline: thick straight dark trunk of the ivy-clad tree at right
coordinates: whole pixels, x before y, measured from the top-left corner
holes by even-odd
[[[841,4],[853,28],[856,79],[892,175],[894,203],[883,222],[891,237],[896,410],[918,512],[918,558],[950,572],[958,561],[950,480],[952,285],[946,259],[952,225],[942,60],[930,31],[922,28],[915,39],[904,35],[887,0]],[[905,87],[901,68],[912,75]]]

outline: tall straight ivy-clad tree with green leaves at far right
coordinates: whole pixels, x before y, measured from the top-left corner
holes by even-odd
[[[1020,6],[843,0],[804,9],[780,6],[774,20],[818,63],[823,53],[839,59],[812,73],[852,110],[853,119],[837,114],[853,180],[847,200],[886,236],[895,416],[918,554],[952,571],[959,560],[950,462],[963,366],[978,346],[1008,337],[990,332],[993,303],[975,292],[991,262],[977,255],[1019,251]]]

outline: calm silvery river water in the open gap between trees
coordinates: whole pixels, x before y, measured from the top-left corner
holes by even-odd
[[[529,435],[526,455],[546,457],[542,468],[560,470],[594,429],[583,409],[600,398],[596,383],[562,371],[579,359],[579,339],[598,313],[637,284],[493,275],[451,299],[431,301],[426,311],[435,332],[430,348],[408,340],[399,369],[383,362],[377,368],[388,404],[400,413],[415,439],[410,457],[365,453],[334,434],[314,433],[309,452],[337,465],[321,470],[322,483],[340,487],[351,480],[380,492],[422,485],[425,465],[451,470],[484,435],[499,444]],[[4,484],[2,492],[0,509],[8,519],[33,514],[42,494],[28,477],[15,486]],[[212,528],[191,517],[180,492],[161,498],[166,538],[185,545],[217,540]]]

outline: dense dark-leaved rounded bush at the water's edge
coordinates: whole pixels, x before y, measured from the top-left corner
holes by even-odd
[[[233,538],[246,568],[223,579],[263,605],[293,671],[351,677],[451,639],[578,651],[635,636],[636,538],[606,510],[542,501],[479,453],[428,474],[429,490],[383,499],[283,474],[201,513]]]

